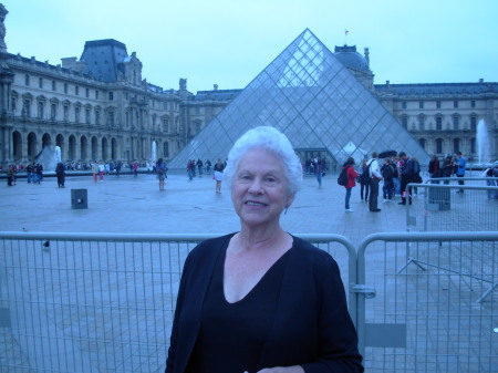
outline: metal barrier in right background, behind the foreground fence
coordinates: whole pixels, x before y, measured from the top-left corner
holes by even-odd
[[[498,230],[498,186],[486,182],[498,178],[461,178],[466,184],[445,184],[460,178],[429,179],[408,184],[415,195],[406,206],[411,231],[495,231]],[[440,182],[440,184],[432,184]],[[415,193],[416,191],[416,193]]]

